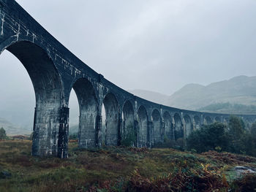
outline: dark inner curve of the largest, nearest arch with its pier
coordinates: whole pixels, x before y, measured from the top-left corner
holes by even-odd
[[[28,41],[6,49],[23,64],[34,86],[32,155],[67,157],[68,109],[61,108],[64,92],[53,60],[42,47]]]

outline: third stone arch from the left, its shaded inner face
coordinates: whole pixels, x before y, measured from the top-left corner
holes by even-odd
[[[120,112],[116,96],[113,93],[108,93],[104,99],[105,107],[105,130],[102,130],[103,144],[119,145],[120,139]]]

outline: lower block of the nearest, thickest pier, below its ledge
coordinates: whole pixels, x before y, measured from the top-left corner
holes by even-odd
[[[34,128],[32,155],[68,157],[68,122],[69,108],[36,107],[34,111]]]

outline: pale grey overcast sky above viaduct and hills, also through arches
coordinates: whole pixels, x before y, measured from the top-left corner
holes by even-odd
[[[18,3],[78,58],[126,90],[170,95],[187,83],[256,74],[255,0]],[[0,57],[0,77],[0,115],[18,119],[1,109],[26,108],[32,121],[31,80],[7,51]]]

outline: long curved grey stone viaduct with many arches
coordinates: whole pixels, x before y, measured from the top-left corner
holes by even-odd
[[[34,85],[32,155],[67,158],[72,88],[80,108],[80,147],[120,145],[131,131],[135,146],[151,147],[164,136],[186,139],[193,129],[214,121],[227,123],[230,116],[167,107],[124,91],[70,53],[14,0],[0,0],[0,53],[4,50],[21,61]],[[249,123],[256,119],[238,116]]]

